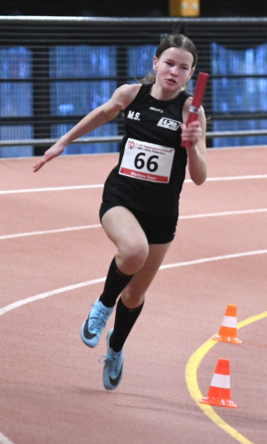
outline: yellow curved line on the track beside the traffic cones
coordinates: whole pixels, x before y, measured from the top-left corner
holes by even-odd
[[[238,322],[237,329],[241,329],[241,327],[251,324],[251,322],[259,321],[259,319],[262,319],[263,317],[267,317],[267,311],[257,314],[256,316],[248,317],[244,321]],[[213,410],[213,408],[210,405],[199,403],[199,400],[203,398],[203,395],[200,392],[200,389],[197,384],[197,376],[196,376],[197,368],[200,365],[200,362],[204,358],[205,354],[208,353],[208,351],[216,344],[217,341],[208,339],[208,341],[204,342],[204,344],[202,344],[200,348],[197,349],[195,353],[193,353],[192,356],[190,356],[190,358],[188,359],[188,363],[185,367],[185,381],[189,393],[192,396],[193,400],[196,401],[196,404],[201,408],[201,410],[203,410],[205,415],[207,415],[209,419],[211,419],[218,427],[222,428],[224,432],[231,435],[235,440],[237,440],[241,444],[253,444],[245,436],[237,432],[235,428],[231,427],[231,425],[225,422],[219,415],[217,415],[217,413]]]

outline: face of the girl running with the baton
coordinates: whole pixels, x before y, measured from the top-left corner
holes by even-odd
[[[159,59],[155,56],[153,69],[161,87],[175,91],[184,86],[194,72],[193,60],[191,52],[182,48],[168,48]]]

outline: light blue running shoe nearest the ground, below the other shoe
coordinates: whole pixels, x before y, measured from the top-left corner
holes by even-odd
[[[118,353],[110,348],[110,336],[112,332],[113,329],[110,329],[106,335],[106,356],[99,359],[99,362],[105,362],[103,369],[103,384],[107,390],[113,390],[118,387],[122,381],[123,373],[123,347]]]

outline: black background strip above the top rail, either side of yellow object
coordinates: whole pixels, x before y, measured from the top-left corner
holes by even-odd
[[[166,17],[168,0],[8,0],[0,2],[0,15]],[[260,0],[200,0],[202,17],[267,16]]]

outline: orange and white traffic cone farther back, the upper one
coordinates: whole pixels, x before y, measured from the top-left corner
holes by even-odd
[[[212,336],[214,341],[232,342],[241,344],[242,341],[236,337],[236,305],[228,304],[222,325],[218,334]]]

